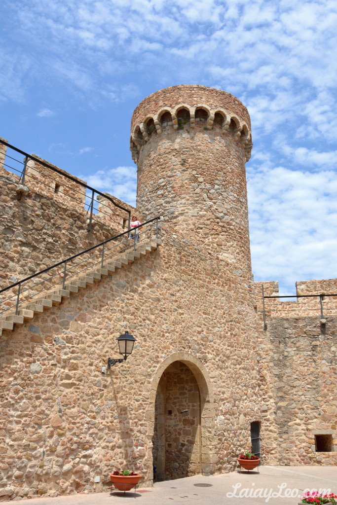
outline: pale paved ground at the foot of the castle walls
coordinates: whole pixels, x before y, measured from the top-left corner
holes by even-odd
[[[198,487],[195,484],[211,484],[210,487]],[[234,493],[235,496],[230,496]],[[136,490],[136,503],[143,505],[170,505],[171,503],[196,503],[197,505],[297,505],[301,490],[330,489],[337,494],[337,467],[260,467],[257,472],[237,472],[203,477],[197,475],[185,479],[158,482],[152,488]],[[255,494],[266,493],[264,497]],[[241,494],[244,493],[244,494]],[[274,496],[270,496],[270,493]],[[292,493],[288,496],[287,493]],[[277,494],[277,496],[275,496]],[[246,496],[245,496],[246,495]],[[76,494],[56,498],[32,498],[28,505],[120,505],[133,503],[134,493],[114,491],[110,494]],[[10,503],[9,501],[3,502]]]

